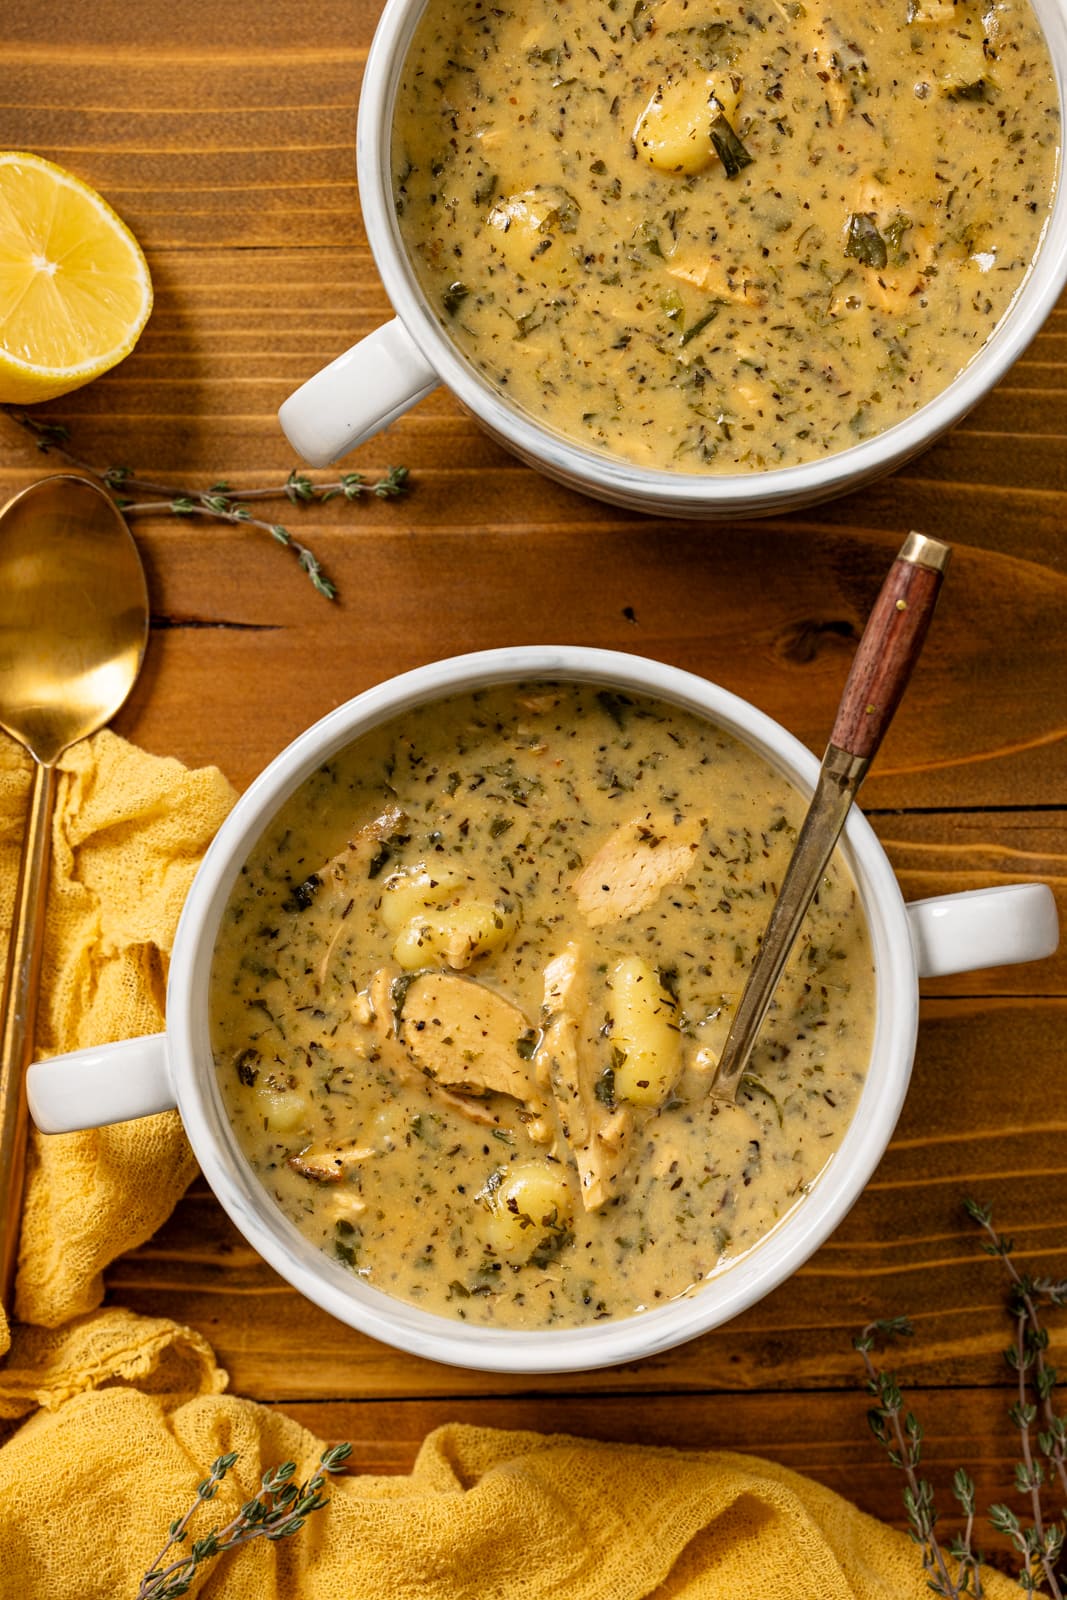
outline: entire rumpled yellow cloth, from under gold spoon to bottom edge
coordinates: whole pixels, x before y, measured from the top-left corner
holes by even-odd
[[[14,894],[29,766],[0,744],[0,918]],[[178,914],[232,792],[110,733],[62,762],[42,1053],[163,1026]],[[6,930],[5,930],[6,936]],[[2,957],[0,950],[0,957]],[[323,1442],[222,1394],[205,1339],[94,1310],[102,1269],[147,1238],[192,1176],[174,1114],[34,1141],[19,1323],[0,1323],[0,1600],[138,1592],[216,1456],[238,1462],[192,1536],[226,1523],[267,1467]],[[358,1467],[358,1461],[355,1462]],[[784,1467],[450,1426],[410,1477],[346,1477],[291,1539],[224,1555],[210,1600],[920,1600],[913,1544]],[[990,1600],[1017,1594],[987,1574]]]

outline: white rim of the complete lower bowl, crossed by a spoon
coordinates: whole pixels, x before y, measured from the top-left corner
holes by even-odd
[[[670,1349],[720,1326],[782,1283],[853,1206],[889,1142],[910,1078],[918,1024],[915,955],[901,890],[859,813],[843,846],[864,899],[877,974],[872,1066],[837,1155],[813,1190],[744,1258],[691,1296],[585,1328],[475,1328],[374,1290],[310,1245],[269,1200],[230,1130],[208,1040],[206,989],[214,936],[237,872],[285,798],[318,765],[376,723],[477,686],[565,678],[632,690],[694,709],[755,746],[803,792],[817,758],[749,702],[651,658],[587,646],[507,646],[429,662],[330,712],[293,741],[240,797],[186,899],[168,986],[168,1059],[178,1107],[218,1200],[256,1251],[339,1322],[453,1366],[498,1373],[585,1371]]]

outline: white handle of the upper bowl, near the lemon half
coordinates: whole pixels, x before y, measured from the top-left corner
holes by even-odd
[[[278,422],[298,456],[326,467],[395,422],[437,384],[437,373],[394,317],[291,394]]]

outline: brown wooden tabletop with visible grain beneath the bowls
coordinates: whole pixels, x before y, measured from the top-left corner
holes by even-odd
[[[94,184],[155,280],[134,354],[40,408],[82,459],[192,488],[267,486],[294,464],[277,406],[389,315],[354,176],[378,11],[6,0],[0,147]],[[406,464],[408,498],[269,512],[318,554],[334,605],[264,533],[136,522],[154,627],[117,728],[243,787],[394,672],[573,642],[704,674],[821,750],[881,576],[920,528],[955,546],[953,566],[864,808],[907,898],[1025,878],[1062,898],[1065,435],[1067,306],[910,467],[773,522],[672,523],[584,499],[509,458],[438,390],[346,462],[371,477]],[[0,418],[3,496],[53,466]],[[288,1290],[200,1181],[114,1264],[107,1296],[202,1330],[235,1394],[350,1438],[358,1467],[405,1470],[445,1419],[566,1429],[761,1453],[894,1522],[901,1485],[867,1432],[851,1339],[869,1318],[907,1314],[915,1338],[894,1365],[934,1482],[944,1491],[966,1464],[981,1504],[1011,1499],[1003,1275],[961,1198],[992,1202],[1029,1269],[1067,1274],[1065,995],[1065,955],[925,984],[907,1106],[853,1213],[760,1306],[646,1362],[537,1381],[400,1355]],[[1056,1344],[1062,1355],[1062,1331]]]

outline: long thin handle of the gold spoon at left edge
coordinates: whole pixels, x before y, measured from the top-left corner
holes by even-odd
[[[56,768],[35,762],[0,1000],[0,1293],[10,1315],[26,1179],[26,1067],[37,1021],[54,792]]]

